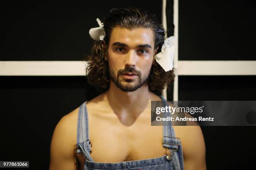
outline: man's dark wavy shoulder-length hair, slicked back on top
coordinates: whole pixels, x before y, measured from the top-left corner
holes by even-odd
[[[151,28],[154,31],[154,49],[159,47],[158,52],[161,51],[166,35],[164,28],[157,22],[156,15],[148,14],[145,10],[136,7],[114,8],[110,10],[110,14],[103,23],[106,33],[104,41],[96,40],[92,46],[91,55],[85,56],[87,80],[101,91],[108,90],[110,85],[108,61],[105,60],[105,55],[114,27]],[[174,77],[174,69],[165,72],[154,59],[147,81],[148,89],[159,93],[165,85],[174,80]]]

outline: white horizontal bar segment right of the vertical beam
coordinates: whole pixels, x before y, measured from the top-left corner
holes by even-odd
[[[178,75],[256,75],[256,61],[185,61],[179,60]]]

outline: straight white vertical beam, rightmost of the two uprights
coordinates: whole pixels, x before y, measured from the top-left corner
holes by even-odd
[[[179,0],[174,0],[174,16],[173,16],[173,22],[174,22],[174,37],[175,37],[175,52],[174,52],[174,68],[178,67],[178,40],[179,40]],[[175,72],[175,78],[174,78],[174,87],[173,87],[173,100],[178,101],[178,73]]]

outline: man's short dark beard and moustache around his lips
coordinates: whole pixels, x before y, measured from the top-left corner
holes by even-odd
[[[109,69],[109,70],[110,70],[110,79],[123,92],[133,92],[133,91],[137,90],[148,80],[148,76],[149,76],[149,73],[148,73],[148,75],[146,75],[145,77],[141,77],[140,71],[135,70],[134,67],[127,67],[124,70],[118,70],[117,77],[115,79],[115,73],[113,72],[113,70],[111,70],[111,69]],[[126,85],[123,85],[121,83],[120,76],[122,74],[124,74],[125,72],[132,72],[132,73],[136,74],[138,76],[138,82],[133,85],[132,83],[135,82],[136,80],[127,79],[127,80],[125,80]]]

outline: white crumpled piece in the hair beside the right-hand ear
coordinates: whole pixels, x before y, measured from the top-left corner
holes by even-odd
[[[156,62],[164,69],[164,71],[172,70],[174,60],[174,36],[164,40],[161,52],[155,55]]]

